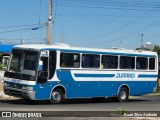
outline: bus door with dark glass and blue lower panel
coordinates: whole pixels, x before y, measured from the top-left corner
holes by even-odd
[[[49,51],[41,51],[37,72],[36,99],[49,98]]]

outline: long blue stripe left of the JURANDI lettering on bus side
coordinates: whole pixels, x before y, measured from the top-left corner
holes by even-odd
[[[114,77],[115,74],[74,74],[75,77]]]

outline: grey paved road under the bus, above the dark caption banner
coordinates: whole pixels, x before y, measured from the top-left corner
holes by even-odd
[[[0,100],[0,111],[118,111],[119,108],[127,111],[160,111],[160,95],[133,97],[125,103],[110,99],[103,102],[76,99],[58,105],[51,105],[48,101],[38,101],[35,105],[29,105],[23,99]]]

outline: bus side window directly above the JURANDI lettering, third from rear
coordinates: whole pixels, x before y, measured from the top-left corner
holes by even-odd
[[[134,69],[135,68],[135,57],[120,57],[120,69]]]

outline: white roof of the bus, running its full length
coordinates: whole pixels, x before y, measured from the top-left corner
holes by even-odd
[[[70,51],[70,52],[112,52],[112,53],[128,53],[128,54],[145,54],[145,55],[157,55],[156,52],[152,51],[144,51],[144,50],[128,50],[122,48],[111,48],[111,49],[102,49],[102,48],[87,48],[87,47],[74,47],[68,44],[56,43],[54,45],[46,45],[46,44],[24,44],[17,45],[13,48],[17,49],[34,49],[34,50],[60,50],[60,51]]]

